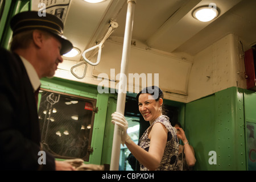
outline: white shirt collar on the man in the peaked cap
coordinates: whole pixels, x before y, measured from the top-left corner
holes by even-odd
[[[35,68],[32,66],[30,62],[28,62],[24,57],[19,56],[22,60],[24,67],[26,68],[28,78],[30,78],[31,85],[33,86],[34,92],[41,85],[40,79],[38,77],[38,73],[36,73]]]

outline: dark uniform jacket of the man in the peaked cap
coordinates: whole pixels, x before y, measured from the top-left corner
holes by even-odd
[[[38,111],[30,79],[20,57],[0,48],[0,170],[54,170],[55,159],[39,151]]]

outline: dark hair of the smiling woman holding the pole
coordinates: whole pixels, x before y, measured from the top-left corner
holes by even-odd
[[[155,101],[159,101],[160,98],[163,99],[163,91],[158,86],[148,86],[142,89],[141,92],[139,92],[136,96],[137,102],[139,102],[139,96],[142,93],[151,94],[151,96],[153,96]],[[166,115],[167,113],[168,113],[168,110],[164,107],[164,105],[162,105],[162,114]]]

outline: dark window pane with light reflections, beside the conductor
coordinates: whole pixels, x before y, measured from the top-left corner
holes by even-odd
[[[56,158],[89,161],[96,100],[41,90],[38,109],[43,150]]]

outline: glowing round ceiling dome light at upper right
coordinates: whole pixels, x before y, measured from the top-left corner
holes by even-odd
[[[193,16],[201,22],[209,22],[218,16],[218,10],[216,7],[203,6],[195,9]]]

